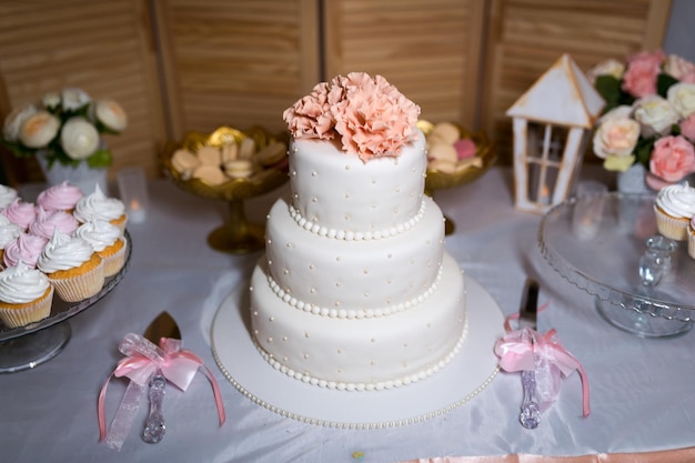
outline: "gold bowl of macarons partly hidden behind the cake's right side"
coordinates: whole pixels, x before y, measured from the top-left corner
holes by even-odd
[[[436,190],[461,187],[471,183],[481,178],[495,163],[497,155],[494,151],[493,143],[490,141],[485,132],[472,132],[457,123],[444,122],[457,130],[457,140],[471,140],[475,144],[475,155],[455,162],[446,162],[442,159],[433,159],[434,150],[432,145],[437,140],[436,129],[440,124],[432,123],[426,120],[419,120],[417,127],[425,134],[427,140],[427,177],[425,178],[425,193],[434,198]],[[450,140],[451,141],[451,140]],[[452,234],[456,228],[454,221],[444,215],[446,234]]]

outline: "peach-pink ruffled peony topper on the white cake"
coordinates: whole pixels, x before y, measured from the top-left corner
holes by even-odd
[[[420,107],[383,77],[351,72],[316,84],[282,115],[295,139],[336,139],[366,162],[397,157],[416,139]]]

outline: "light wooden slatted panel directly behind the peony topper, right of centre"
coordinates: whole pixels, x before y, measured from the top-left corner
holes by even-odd
[[[324,78],[381,74],[422,118],[472,127],[485,8],[480,0],[325,1]]]

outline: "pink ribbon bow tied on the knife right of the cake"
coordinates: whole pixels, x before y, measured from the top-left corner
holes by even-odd
[[[538,312],[546,306],[547,303]],[[555,329],[546,333],[530,328],[512,330],[510,321],[517,318],[518,313],[507,316],[504,322],[506,334],[495,343],[500,368],[506,372],[535,371],[538,405],[542,412],[555,401],[562,378],[570,376],[575,370],[578,371],[582,381],[582,412],[584,416],[588,416],[591,413],[588,380],[584,366],[562,345]]]

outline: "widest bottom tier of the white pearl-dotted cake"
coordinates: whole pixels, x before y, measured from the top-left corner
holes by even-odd
[[[441,282],[422,303],[386,316],[341,319],[296,309],[271,289],[265,259],[251,279],[254,342],[276,369],[339,390],[382,390],[437,372],[466,335],[464,275],[444,254]]]

